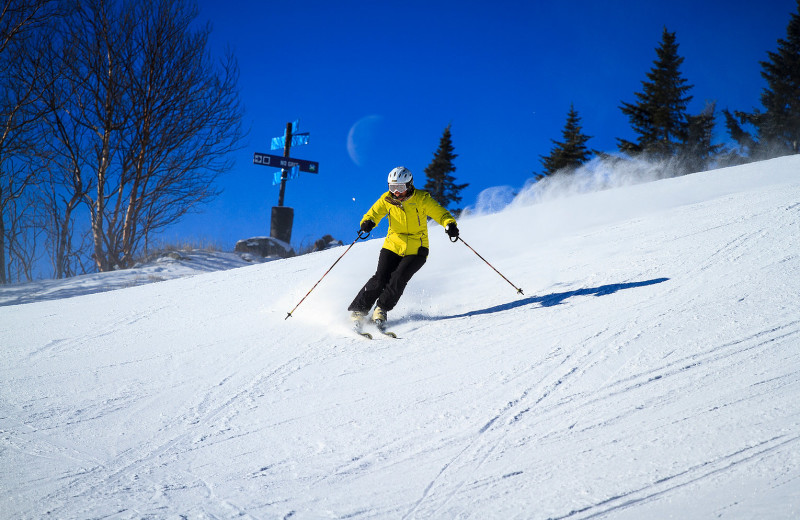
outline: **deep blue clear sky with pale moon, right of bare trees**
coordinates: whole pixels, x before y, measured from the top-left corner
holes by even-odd
[[[273,168],[253,164],[270,139],[299,120],[310,144],[292,157],[318,161],[286,187],[295,210],[292,245],[324,234],[352,241],[361,216],[394,166],[425,183],[452,124],[455,177],[469,183],[461,206],[490,187],[522,187],[541,170],[571,103],[593,149],[635,139],[622,101],[656,59],[664,27],[675,32],[681,72],[694,85],[689,111],[760,106],[759,61],[777,50],[795,0],[607,1],[200,1],[211,52],[230,48],[240,67],[249,135],[224,193],[168,230],[231,250],[269,235],[278,203]],[[724,121],[717,141],[727,140]],[[352,139],[348,140],[348,137]],[[512,225],[513,223],[509,223]],[[434,224],[435,225],[435,224]],[[377,230],[385,232],[385,223]]]

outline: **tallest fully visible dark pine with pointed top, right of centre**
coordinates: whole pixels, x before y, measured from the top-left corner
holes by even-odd
[[[642,82],[642,92],[636,92],[636,103],[623,102],[620,109],[628,116],[633,130],[639,135],[637,142],[617,139],[620,151],[628,154],[646,153],[658,158],[672,157],[686,140],[686,107],[692,99],[681,76],[683,57],[678,55],[675,33],[662,34],[661,45],[656,48],[657,59]]]

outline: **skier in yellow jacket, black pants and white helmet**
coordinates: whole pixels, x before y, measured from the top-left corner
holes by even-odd
[[[427,191],[414,188],[408,168],[389,172],[389,191],[361,219],[361,232],[369,233],[387,214],[389,233],[378,256],[378,269],[347,308],[357,331],[377,302],[372,320],[384,330],[386,313],[397,305],[408,281],[428,256],[428,217],[441,224],[451,239],[458,238],[456,219]]]

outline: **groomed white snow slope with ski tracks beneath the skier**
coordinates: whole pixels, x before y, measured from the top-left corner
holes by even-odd
[[[0,307],[3,518],[800,517],[800,156]]]

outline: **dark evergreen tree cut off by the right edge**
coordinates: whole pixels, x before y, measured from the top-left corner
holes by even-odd
[[[753,158],[776,157],[800,151],[800,0],[786,28],[786,39],[778,39],[778,52],[767,52],[761,76],[767,88],[761,94],[764,111],[724,111],[728,132]],[[749,123],[755,135],[741,124]]]

